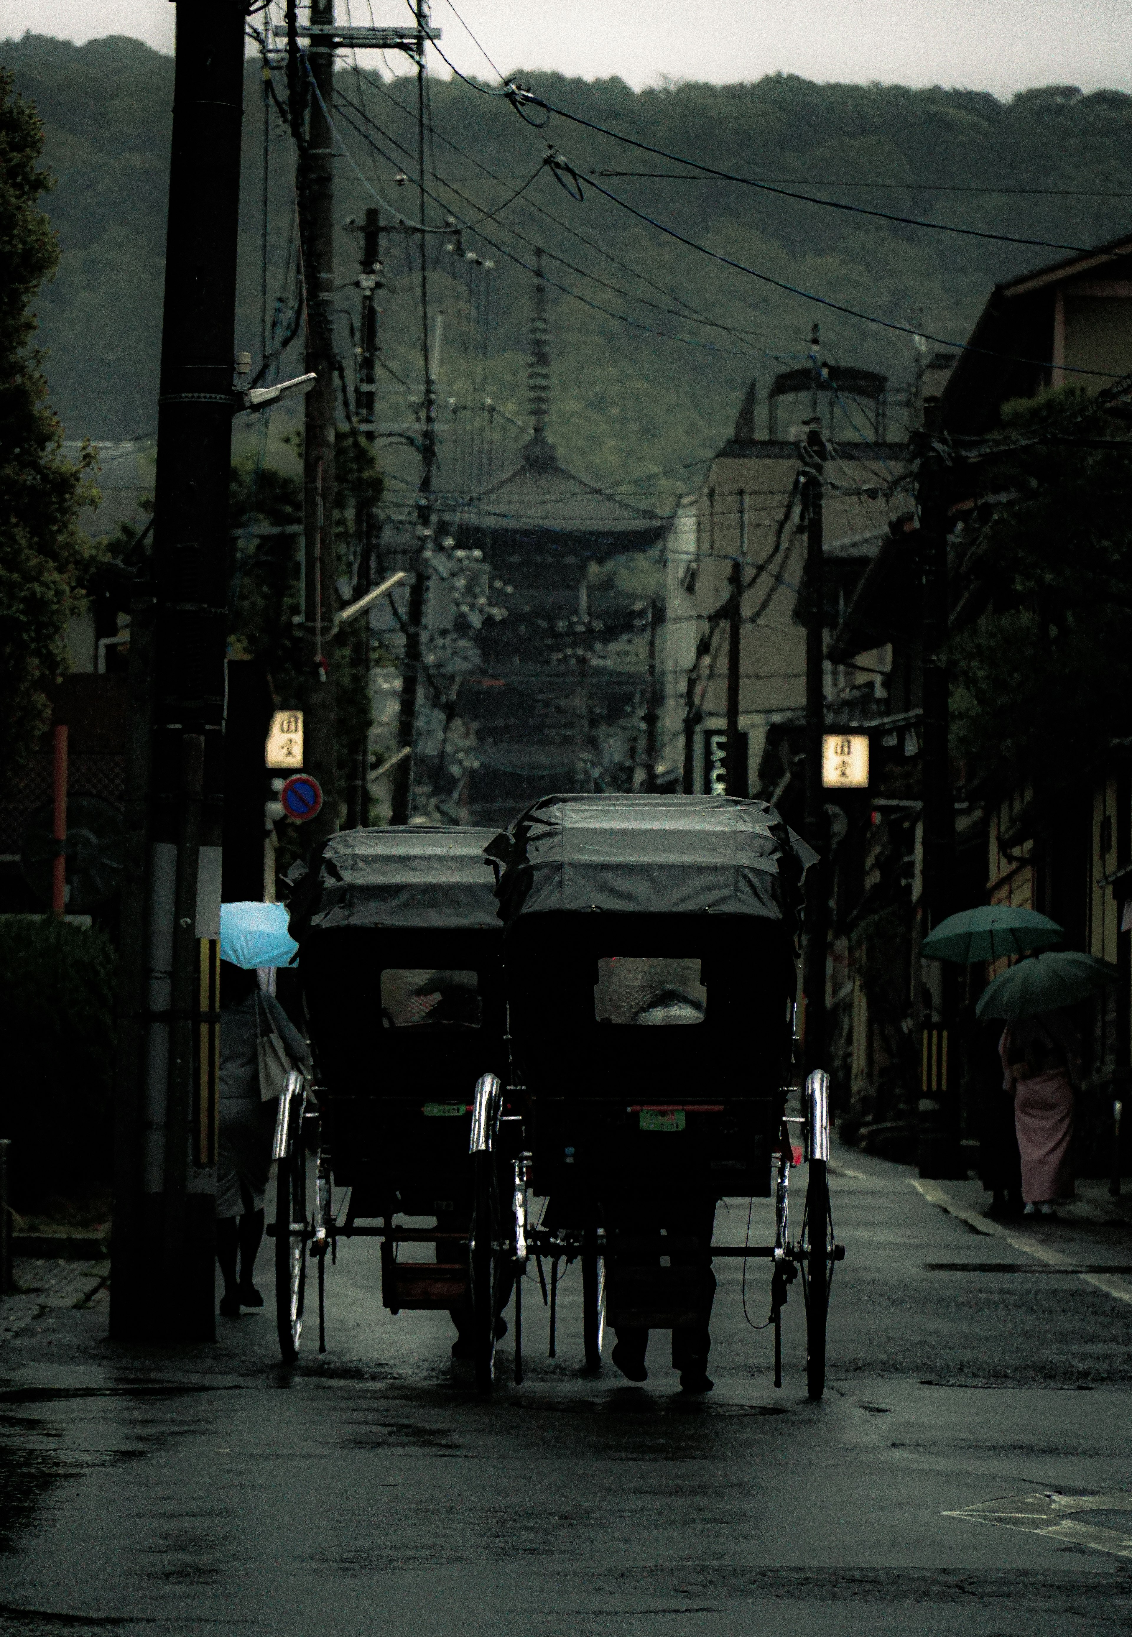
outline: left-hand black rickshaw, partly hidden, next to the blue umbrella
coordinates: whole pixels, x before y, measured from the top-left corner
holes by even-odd
[[[340,1239],[381,1239],[381,1297],[401,1310],[447,1308],[491,1383],[494,1333],[514,1269],[510,1238],[479,1231],[510,1220],[499,1133],[510,1118],[502,922],[489,830],[375,828],[330,837],[291,895],[291,931],[316,1066],[280,1100],[276,1311],[293,1362],[306,1270],[324,1275]],[[317,1152],[308,1200],[308,1151]],[[507,1208],[501,1208],[505,1198]],[[398,1226],[435,1218],[435,1229]],[[435,1260],[406,1262],[435,1242]]]

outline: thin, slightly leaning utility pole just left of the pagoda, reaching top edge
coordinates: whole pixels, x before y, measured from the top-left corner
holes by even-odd
[[[429,255],[425,236],[425,41],[429,39],[429,3],[416,0],[417,21],[417,210],[420,213],[420,367],[424,370],[424,403],[420,406],[420,488],[417,491],[417,550],[409,586],[404,632],[404,671],[401,676],[401,710],[398,746],[409,755],[398,763],[393,781],[391,823],[409,823],[412,817],[412,779],[417,732],[417,699],[420,694],[420,627],[427,583],[425,553],[432,540],[432,475],[437,463],[437,383],[429,354]]]

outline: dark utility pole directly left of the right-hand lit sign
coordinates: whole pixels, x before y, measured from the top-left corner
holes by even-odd
[[[816,398],[816,391],[815,391]],[[826,445],[821,422],[810,422],[805,450],[806,486],[806,841],[820,855],[806,882],[803,989],[805,1067],[828,1067],[826,1058],[826,941],[829,874],[826,861],[826,809],[821,784],[821,740],[826,730],[824,624],[826,588],[823,560],[823,473]]]

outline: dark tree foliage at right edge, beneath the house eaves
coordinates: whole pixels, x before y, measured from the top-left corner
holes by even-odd
[[[954,748],[995,787],[1080,781],[1132,733],[1132,439],[1078,388],[1008,404],[964,578],[982,607],[952,642]],[[1062,429],[1070,442],[1049,442]],[[1076,442],[1071,442],[1076,440]],[[1071,746],[1071,756],[1067,748]]]

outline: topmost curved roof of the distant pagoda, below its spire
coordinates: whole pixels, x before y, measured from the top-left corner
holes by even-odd
[[[471,503],[461,522],[492,534],[564,534],[615,550],[641,550],[659,540],[666,519],[628,506],[561,465],[541,432],[522,460]]]

